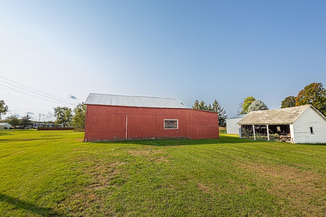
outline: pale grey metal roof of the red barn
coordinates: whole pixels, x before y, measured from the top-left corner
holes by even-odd
[[[85,101],[88,105],[110,105],[149,108],[186,108],[175,99],[157,97],[122,96],[91,93]]]

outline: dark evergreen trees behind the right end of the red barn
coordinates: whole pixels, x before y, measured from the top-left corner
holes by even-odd
[[[199,102],[198,100],[196,100],[192,108],[217,112],[219,117],[219,126],[220,127],[226,126],[226,118],[228,118],[228,115],[226,114],[226,111],[217,100],[214,100],[212,104],[208,104],[208,105],[204,101]]]

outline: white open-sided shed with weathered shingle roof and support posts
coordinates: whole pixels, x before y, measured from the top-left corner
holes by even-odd
[[[252,111],[237,122],[254,133],[289,135],[292,143],[326,143],[326,117],[312,105]],[[241,134],[240,134],[241,136]]]

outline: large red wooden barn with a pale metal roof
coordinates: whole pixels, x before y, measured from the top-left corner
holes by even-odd
[[[218,139],[218,114],[175,99],[90,94],[84,141]]]

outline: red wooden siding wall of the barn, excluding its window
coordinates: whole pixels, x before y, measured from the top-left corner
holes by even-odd
[[[164,119],[177,119],[178,129],[164,129]],[[218,114],[195,109],[87,105],[84,141],[163,138],[218,139]]]

